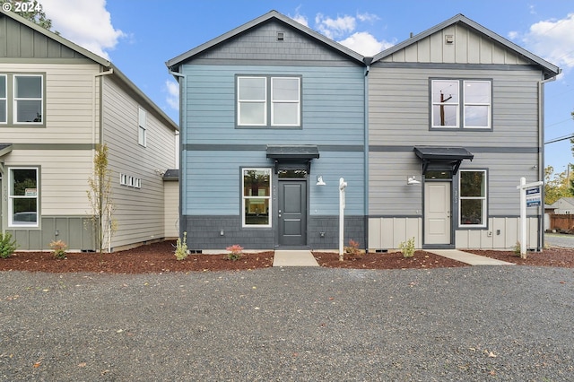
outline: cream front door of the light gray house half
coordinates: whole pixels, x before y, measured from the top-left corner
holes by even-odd
[[[450,182],[424,184],[424,244],[450,244]]]

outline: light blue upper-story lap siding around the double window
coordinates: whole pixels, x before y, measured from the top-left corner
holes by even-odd
[[[363,143],[360,68],[187,65],[185,73],[187,143]],[[302,128],[235,128],[235,74],[301,75]]]

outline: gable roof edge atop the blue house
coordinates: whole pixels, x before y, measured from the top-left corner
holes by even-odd
[[[176,67],[180,64],[182,64],[183,62],[192,59],[194,56],[197,56],[201,53],[203,53],[204,51],[216,47],[217,45],[221,44],[222,42],[225,42],[229,39],[232,39],[242,33],[247,32],[248,30],[251,30],[252,28],[256,27],[257,25],[260,25],[264,22],[269,22],[270,20],[277,20],[279,22],[283,22],[284,24],[290,26],[292,29],[294,30],[299,30],[301,33],[309,36],[309,39],[315,39],[318,42],[324,44],[326,47],[331,48],[337,52],[339,52],[340,54],[344,55],[344,56],[348,56],[350,59],[357,61],[359,63],[363,62],[363,56],[361,56],[359,53],[353,51],[352,49],[346,48],[343,45],[339,44],[338,42],[335,42],[332,39],[328,39],[325,36],[323,36],[322,34],[318,33],[315,30],[311,30],[310,28],[306,27],[305,25],[300,24],[299,22],[295,22],[294,20],[292,20],[290,17],[287,17],[285,15],[283,15],[282,13],[278,13],[277,11],[271,11],[269,13],[265,13],[262,16],[257,17],[257,19],[254,19],[250,22],[247,22],[241,26],[239,26],[238,28],[235,28],[234,30],[230,30],[227,33],[222,34],[221,36],[212,39],[210,41],[205,42],[204,44],[193,48],[191,50],[188,50],[186,53],[183,53],[177,57],[171,58],[169,61],[167,61],[165,64],[168,66],[168,68],[170,70],[174,70],[176,69]]]

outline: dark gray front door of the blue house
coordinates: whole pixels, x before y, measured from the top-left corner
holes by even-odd
[[[307,181],[279,180],[279,245],[307,245]]]

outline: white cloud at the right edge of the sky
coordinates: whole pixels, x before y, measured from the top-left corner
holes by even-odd
[[[552,64],[574,67],[574,13],[561,20],[536,22],[522,41],[528,50]]]

